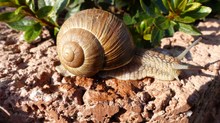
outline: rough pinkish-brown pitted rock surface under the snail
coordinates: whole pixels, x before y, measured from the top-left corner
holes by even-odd
[[[181,81],[63,77],[53,40],[27,44],[0,24],[0,122],[220,122],[220,21],[200,22],[203,40],[182,62]],[[177,56],[194,40],[177,32],[160,51]]]

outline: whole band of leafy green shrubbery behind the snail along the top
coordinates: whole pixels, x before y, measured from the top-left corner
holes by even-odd
[[[176,31],[201,35],[198,21],[218,18],[220,0],[0,0],[0,21],[24,32],[31,43],[43,27],[55,39],[62,23],[75,12],[99,8],[122,19],[138,47],[156,47]]]

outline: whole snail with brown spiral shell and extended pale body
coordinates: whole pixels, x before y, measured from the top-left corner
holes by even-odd
[[[77,76],[98,73],[120,80],[173,80],[181,69],[189,68],[180,60],[199,40],[176,58],[136,48],[120,19],[103,10],[88,9],[64,22],[57,36],[57,52],[64,68]]]

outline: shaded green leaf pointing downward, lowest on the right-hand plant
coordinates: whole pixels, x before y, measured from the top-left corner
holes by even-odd
[[[153,28],[152,32],[151,32],[151,42],[154,46],[157,46],[160,44],[161,39],[164,36],[164,31],[160,30],[158,28]]]

